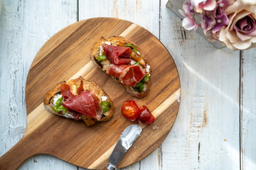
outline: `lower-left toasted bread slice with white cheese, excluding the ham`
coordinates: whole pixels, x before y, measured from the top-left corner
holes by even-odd
[[[66,81],[60,82],[59,84],[55,85],[53,89],[48,91],[48,93],[43,99],[43,104],[46,107],[46,109],[50,113],[53,113],[55,115],[60,115],[65,118],[73,118],[72,115],[70,115],[69,113],[65,113],[64,111],[58,111],[58,112],[53,111],[53,107],[55,106],[55,103],[58,100],[58,98],[60,98],[61,96],[60,84],[62,83],[68,84],[70,86],[71,92],[77,95],[78,87],[80,86],[81,81],[83,82],[83,87],[85,91],[94,91],[95,96],[97,96],[99,102],[102,101],[102,97],[103,97],[106,99],[107,102],[112,103],[112,101],[110,100],[110,97],[107,96],[107,94],[105,94],[105,92],[102,90],[102,88],[100,88],[100,86],[98,86],[94,82],[89,82],[89,81],[86,81],[85,79],[82,79],[82,77],[79,77],[78,79],[72,79],[67,82]],[[91,118],[90,116],[82,115],[82,114],[80,114],[79,120],[83,120],[85,122],[85,125],[87,127],[90,127],[92,125],[95,125],[97,121],[105,122],[107,120],[110,120],[113,114],[114,114],[114,107],[112,106],[112,108],[110,108],[109,111],[102,114],[102,118],[100,120],[96,120],[95,118]]]

